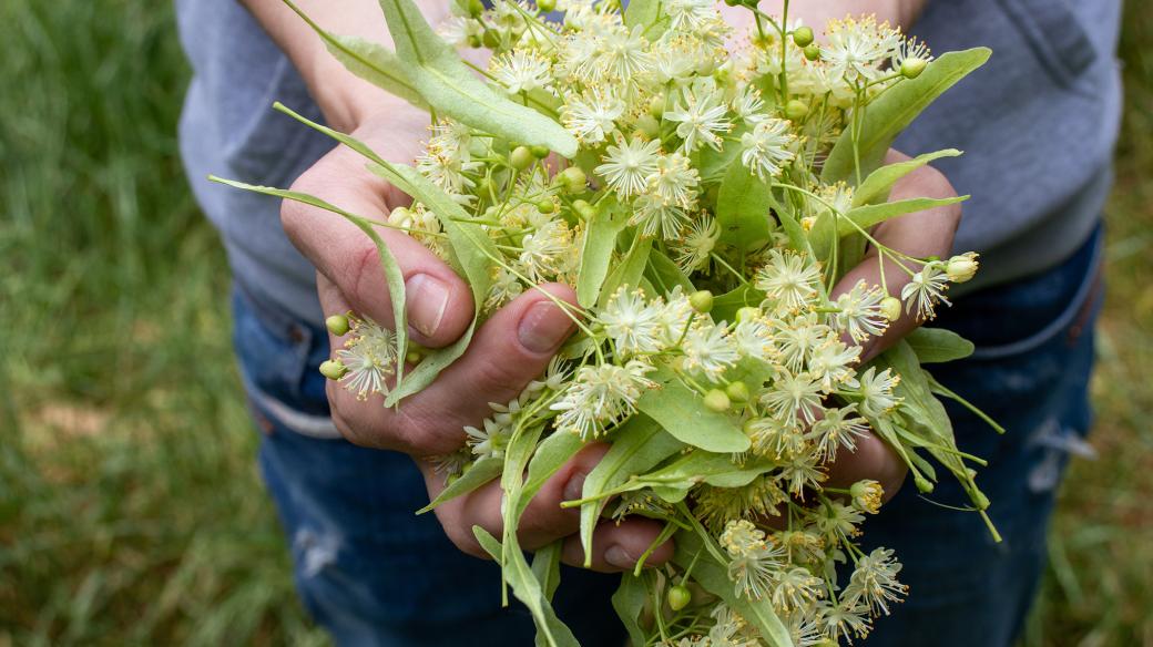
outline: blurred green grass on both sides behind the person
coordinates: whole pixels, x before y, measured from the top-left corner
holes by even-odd
[[[310,645],[184,185],[167,1],[0,2],[0,647]],[[1095,462],[1025,642],[1153,646],[1153,7],[1130,0]]]

